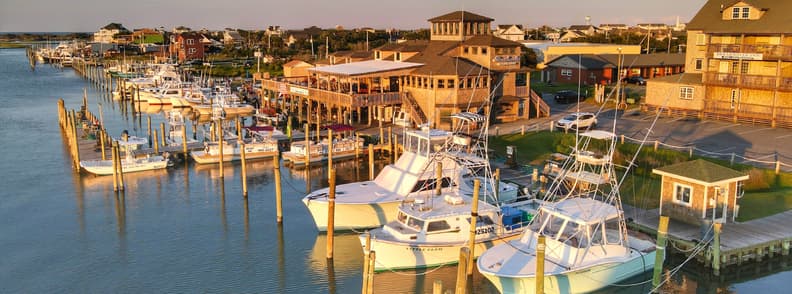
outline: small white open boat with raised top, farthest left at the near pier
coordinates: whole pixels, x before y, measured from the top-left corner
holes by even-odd
[[[124,138],[126,138],[126,140]],[[119,147],[121,147],[126,154],[126,156],[121,159],[121,168],[124,173],[163,169],[168,166],[168,159],[166,156],[146,155],[146,157],[143,158],[136,158],[134,156],[134,150],[148,143],[148,140],[145,138],[122,136],[122,139],[117,141]],[[89,173],[99,176],[113,174],[113,160],[81,160],[80,167]]]

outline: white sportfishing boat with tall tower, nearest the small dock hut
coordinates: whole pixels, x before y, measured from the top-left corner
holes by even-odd
[[[530,229],[479,256],[479,272],[501,293],[535,290],[539,236],[546,238],[546,293],[591,292],[653,268],[654,243],[628,231],[624,220],[612,162],[615,138],[599,130],[581,134]],[[595,140],[604,141],[605,150],[593,148]]]

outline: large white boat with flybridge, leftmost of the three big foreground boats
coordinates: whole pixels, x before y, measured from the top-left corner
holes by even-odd
[[[335,229],[374,228],[395,220],[398,206],[404,199],[434,184],[434,166],[428,166],[430,157],[450,137],[450,132],[428,128],[406,131],[404,153],[396,163],[385,166],[373,181],[337,185]],[[451,160],[443,162],[444,180],[441,185],[444,191],[449,190],[450,179],[458,177],[454,173],[454,165]],[[319,231],[327,230],[328,192],[323,188],[303,198]]]

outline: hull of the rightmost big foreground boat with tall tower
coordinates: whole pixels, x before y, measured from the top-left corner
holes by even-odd
[[[635,256],[624,262],[610,262],[581,270],[564,272],[544,277],[545,293],[587,293],[616,284],[654,267],[656,251]],[[380,256],[377,255],[379,262]],[[501,293],[532,293],[536,289],[536,277],[497,276],[479,270]]]

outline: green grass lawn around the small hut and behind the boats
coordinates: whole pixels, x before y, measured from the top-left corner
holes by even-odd
[[[570,146],[575,144],[574,140],[572,133],[542,131],[491,137],[489,146],[494,150],[495,160],[502,161],[506,157],[506,146],[514,145],[517,147],[518,166],[541,167],[552,153],[568,154]],[[592,147],[605,148],[596,144]],[[637,148],[637,144],[618,144],[614,162],[624,166],[628,159],[632,159]],[[651,147],[641,149],[634,162],[635,167],[622,182],[622,202],[644,209],[657,208],[660,204],[660,177],[653,174],[652,169],[697,158],[749,174],[750,179],[743,186],[744,196],[738,200],[738,221],[762,218],[792,209],[792,174],[776,175],[773,170],[742,164],[730,165],[728,161],[712,158],[690,158],[687,152],[662,148],[655,151]]]

